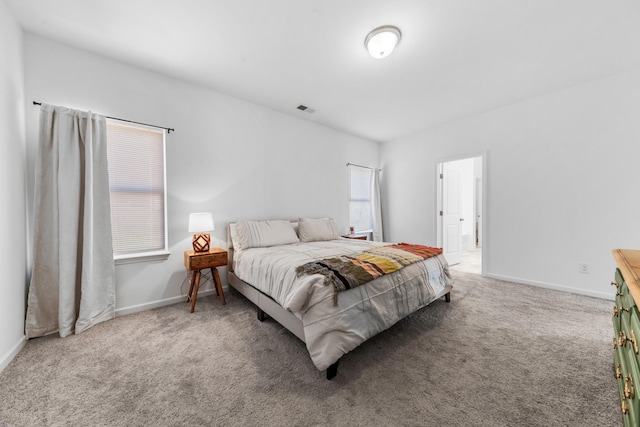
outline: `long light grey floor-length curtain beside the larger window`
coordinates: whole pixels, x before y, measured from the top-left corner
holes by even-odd
[[[91,112],[40,108],[27,338],[114,317],[106,129]]]

